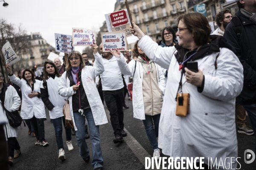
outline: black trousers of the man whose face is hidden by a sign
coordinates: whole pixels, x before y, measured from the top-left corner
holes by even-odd
[[[114,91],[103,91],[104,100],[110,112],[110,121],[115,136],[121,136],[124,129],[124,88]]]

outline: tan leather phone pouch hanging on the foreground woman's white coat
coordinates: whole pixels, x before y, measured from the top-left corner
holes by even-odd
[[[177,94],[176,116],[185,117],[189,113],[189,94]]]

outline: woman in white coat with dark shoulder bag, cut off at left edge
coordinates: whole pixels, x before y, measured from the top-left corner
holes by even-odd
[[[6,84],[3,82],[3,75],[0,73],[0,112],[4,113],[4,119],[7,119],[6,111],[3,106],[8,111],[17,111],[20,107],[20,97],[17,94],[12,85]],[[3,125],[7,144],[8,144],[8,162],[9,165],[13,164],[14,151],[18,151],[17,155],[20,155],[20,145],[16,137],[18,135],[18,127],[10,126],[9,122]],[[16,155],[16,154],[15,154]]]

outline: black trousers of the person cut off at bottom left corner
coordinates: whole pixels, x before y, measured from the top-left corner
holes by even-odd
[[[8,150],[3,124],[0,125],[0,169],[8,170]]]

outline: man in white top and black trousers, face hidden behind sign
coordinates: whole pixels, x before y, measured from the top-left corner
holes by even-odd
[[[114,130],[114,143],[123,142],[124,136],[124,83],[116,57],[110,52],[103,52],[102,44],[99,46],[105,71],[100,75],[102,82],[103,97],[110,112],[110,121]]]

